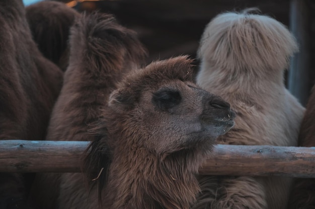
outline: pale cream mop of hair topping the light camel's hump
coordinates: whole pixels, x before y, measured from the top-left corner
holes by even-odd
[[[253,11],[227,12],[212,19],[201,38],[198,57],[239,71],[286,69],[298,51],[294,36],[282,23]]]

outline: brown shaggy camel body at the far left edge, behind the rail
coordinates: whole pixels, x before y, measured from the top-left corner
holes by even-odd
[[[0,3],[0,139],[42,140],[62,72],[32,40],[22,1]],[[26,208],[28,178],[0,173],[0,207]]]

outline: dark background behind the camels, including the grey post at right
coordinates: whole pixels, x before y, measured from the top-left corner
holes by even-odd
[[[214,16],[256,7],[286,25],[299,43],[300,53],[286,74],[289,90],[305,104],[315,83],[315,0],[59,1],[80,12],[114,14],[120,24],[138,33],[149,51],[147,62],[182,54],[195,58],[203,29]]]

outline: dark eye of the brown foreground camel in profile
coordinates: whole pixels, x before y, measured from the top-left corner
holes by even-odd
[[[152,101],[161,110],[169,110],[182,100],[180,92],[176,89],[161,88],[153,93]]]

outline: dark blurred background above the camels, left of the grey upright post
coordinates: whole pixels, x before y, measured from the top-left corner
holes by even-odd
[[[195,57],[205,25],[224,11],[257,7],[262,13],[289,26],[290,2],[231,0],[116,0],[67,1],[78,11],[100,10],[116,16],[119,22],[137,31],[149,50],[148,61],[181,54]]]

